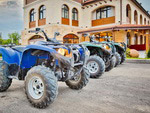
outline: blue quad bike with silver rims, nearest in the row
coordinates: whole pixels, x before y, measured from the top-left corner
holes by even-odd
[[[37,108],[46,108],[58,94],[57,81],[63,81],[71,89],[85,87],[90,76],[86,68],[89,57],[87,48],[80,44],[61,44],[56,38],[28,46],[0,47],[0,92],[6,91],[12,79],[25,80],[25,93],[29,102]],[[55,33],[55,37],[59,33]]]

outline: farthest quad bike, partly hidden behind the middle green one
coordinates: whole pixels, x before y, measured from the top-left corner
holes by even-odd
[[[126,59],[125,52],[126,52],[127,46],[124,42],[117,43],[117,42],[114,42],[114,41],[110,41],[109,37],[105,37],[105,39],[108,43],[114,45],[115,48],[116,48],[116,53],[115,53],[116,64],[115,64],[115,67],[117,67],[119,64],[122,64]]]

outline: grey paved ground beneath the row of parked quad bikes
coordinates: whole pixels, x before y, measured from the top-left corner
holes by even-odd
[[[44,110],[33,108],[24,83],[14,81],[0,93],[0,113],[150,113],[150,65],[125,63],[80,91],[59,83],[58,98]]]

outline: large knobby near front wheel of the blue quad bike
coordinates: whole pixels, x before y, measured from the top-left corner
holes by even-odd
[[[33,67],[25,78],[25,93],[34,107],[46,108],[58,94],[54,72],[45,66]]]

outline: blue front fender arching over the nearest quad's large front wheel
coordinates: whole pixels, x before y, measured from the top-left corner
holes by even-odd
[[[25,48],[25,51],[22,55],[22,61],[20,64],[21,68],[31,68],[36,64],[36,61],[38,58],[41,59],[48,59],[48,54],[43,55],[42,57],[39,56],[33,56],[31,54],[32,50],[42,50],[47,53],[50,53],[55,59],[58,59],[59,61],[66,63],[67,65],[70,65],[70,59],[67,59],[63,57],[62,55],[58,54],[58,52],[52,48],[51,46],[44,46],[44,45],[29,45]]]

